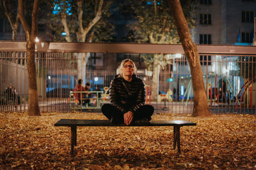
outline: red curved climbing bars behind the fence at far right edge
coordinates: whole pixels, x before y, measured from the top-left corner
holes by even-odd
[[[249,90],[250,90],[250,101],[247,101],[247,108],[249,108],[249,103],[250,103],[250,108],[252,109],[252,83],[255,80],[256,80],[256,76],[251,78],[250,80],[246,81],[244,83],[244,85],[241,87],[241,89],[239,90],[239,93],[236,96],[236,111],[237,111],[237,103],[239,103],[240,108],[242,108],[241,103],[243,102],[244,93],[247,92],[247,96],[249,96],[248,95]],[[248,89],[248,87],[249,87],[249,89]],[[241,99],[239,99],[239,95],[242,91],[243,91],[243,94],[241,96]],[[249,97],[247,97],[247,100],[249,100]]]

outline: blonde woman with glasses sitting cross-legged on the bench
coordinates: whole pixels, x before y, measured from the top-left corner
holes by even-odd
[[[111,124],[148,124],[154,107],[145,104],[145,84],[134,74],[136,66],[130,59],[120,64],[120,74],[110,83],[111,104],[104,104],[102,113]]]

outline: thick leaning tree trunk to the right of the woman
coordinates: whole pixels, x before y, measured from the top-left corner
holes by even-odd
[[[210,116],[211,112],[208,108],[207,97],[204,87],[204,77],[202,74],[202,68],[200,65],[200,58],[195,43],[191,39],[188,23],[184,17],[180,1],[171,0],[170,6],[172,8],[172,14],[175,19],[175,25],[179,34],[182,47],[189,62],[191,71],[193,95],[194,95],[194,108],[193,117]]]

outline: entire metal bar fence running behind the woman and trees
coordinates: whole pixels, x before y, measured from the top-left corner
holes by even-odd
[[[179,46],[180,48],[180,46]],[[234,47],[236,48],[236,47]],[[239,48],[239,47],[237,47]],[[200,51],[200,50],[199,50]],[[108,55],[108,54],[107,54]],[[151,101],[155,113],[191,113],[193,88],[188,62],[182,55],[173,55],[168,71],[159,73],[159,95]],[[77,83],[77,59],[73,52],[36,52],[36,80],[40,111],[72,111],[68,104],[70,90]],[[204,83],[212,113],[255,114],[256,55],[248,53],[200,52]],[[28,73],[26,52],[0,51],[0,111],[28,110]],[[86,70],[92,90],[109,87],[116,74],[106,70]],[[152,86],[152,78],[140,74]],[[15,88],[10,88],[10,83]],[[148,93],[149,94],[149,93]],[[105,102],[109,102],[106,100]]]

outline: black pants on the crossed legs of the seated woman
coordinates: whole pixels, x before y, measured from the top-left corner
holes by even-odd
[[[112,104],[104,104],[101,107],[101,111],[103,115],[105,115],[109,120],[114,117],[118,120],[118,122],[124,124],[124,113],[122,111],[118,110],[115,106]],[[148,104],[145,104],[141,106],[137,111],[135,111],[134,119],[133,120],[140,120],[142,118],[147,118],[148,120],[151,120],[151,116],[154,113],[154,107]]]

